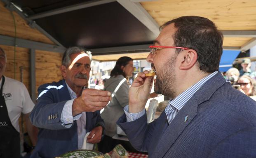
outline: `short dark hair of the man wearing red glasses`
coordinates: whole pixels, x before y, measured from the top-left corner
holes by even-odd
[[[164,23],[160,29],[174,23],[174,46],[188,47],[197,52],[200,70],[214,72],[219,68],[222,55],[223,34],[208,18],[181,16]],[[181,50],[177,49],[177,53]]]

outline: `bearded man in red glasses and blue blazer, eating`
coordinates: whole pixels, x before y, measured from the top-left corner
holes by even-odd
[[[221,32],[198,16],[176,18],[161,28],[147,61],[156,71],[155,92],[172,99],[147,124],[153,77],[139,73],[117,121],[129,141],[149,158],[255,158],[256,102],[218,71]]]

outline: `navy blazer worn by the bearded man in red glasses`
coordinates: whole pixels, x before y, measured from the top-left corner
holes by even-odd
[[[187,116],[187,119],[186,119]],[[146,114],[117,124],[149,158],[256,158],[256,102],[218,72],[168,125],[164,112],[147,124]]]

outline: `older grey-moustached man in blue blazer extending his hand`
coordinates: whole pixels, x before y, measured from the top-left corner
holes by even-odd
[[[84,140],[92,144],[100,142],[105,124],[99,110],[111,96],[107,91],[85,88],[90,64],[90,54],[85,50],[68,48],[61,65],[63,80],[38,88],[38,103],[30,119],[40,131],[31,158],[54,158],[82,149]]]

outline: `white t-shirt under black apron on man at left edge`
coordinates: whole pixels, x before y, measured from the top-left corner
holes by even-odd
[[[2,86],[2,78],[0,80],[0,86]],[[12,126],[19,132],[19,117],[21,112],[23,114],[31,112],[35,104],[31,100],[28,90],[23,83],[6,76],[2,93],[5,97]]]

